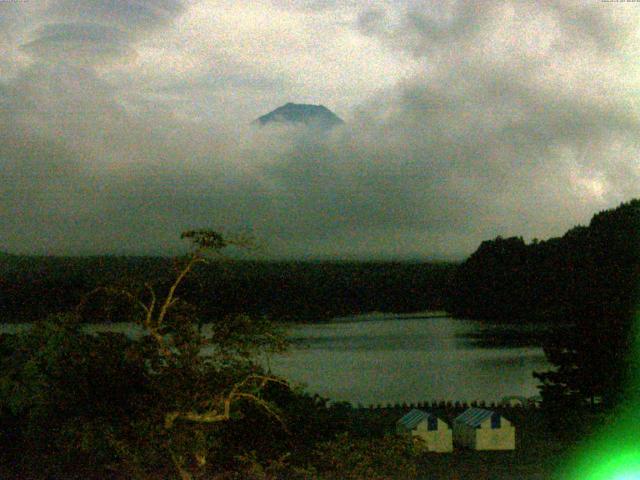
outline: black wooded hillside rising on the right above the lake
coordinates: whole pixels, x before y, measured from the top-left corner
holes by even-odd
[[[482,242],[458,269],[447,310],[463,317],[584,321],[628,318],[640,285],[640,199],[561,238]]]

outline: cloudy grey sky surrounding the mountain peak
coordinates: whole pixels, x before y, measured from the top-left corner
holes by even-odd
[[[461,259],[640,196],[640,3],[0,1],[0,250]],[[251,122],[322,104],[326,134]]]

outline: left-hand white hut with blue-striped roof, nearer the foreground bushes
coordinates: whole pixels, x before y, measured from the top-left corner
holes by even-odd
[[[421,438],[430,452],[453,451],[451,428],[431,413],[413,409],[396,422],[396,433]]]

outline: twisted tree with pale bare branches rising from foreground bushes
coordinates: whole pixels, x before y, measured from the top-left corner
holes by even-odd
[[[166,293],[160,294],[150,282],[144,283],[144,288],[137,294],[127,288],[99,287],[90,292],[77,307],[77,313],[80,314],[91,297],[98,292],[105,292],[113,296],[123,296],[136,305],[141,312],[137,321],[144,328],[147,337],[150,337],[155,345],[157,358],[149,363],[154,365],[152,370],[156,376],[161,375],[163,372],[166,375],[172,375],[172,366],[180,363],[181,356],[184,355],[183,349],[186,343],[175,341],[175,331],[172,333],[172,328],[174,330],[176,328],[175,319],[169,321],[172,315],[176,315],[177,311],[182,312],[176,315],[179,317],[179,321],[182,322],[181,325],[178,325],[178,328],[193,331],[194,318],[192,311],[185,308],[188,303],[178,295],[185,279],[193,273],[198,264],[224,259],[222,251],[228,247],[248,249],[253,245],[252,239],[247,236],[224,237],[211,230],[187,231],[182,234],[181,238],[191,240],[193,248],[177,267],[175,279],[169,284]],[[185,311],[187,312],[186,314],[184,313]],[[282,348],[284,345],[283,338],[269,331],[269,329],[254,333],[256,335],[266,335],[272,345],[278,346],[277,348]],[[206,355],[202,355],[201,351],[203,347],[213,345],[215,348],[221,345],[221,339],[215,338],[215,335],[215,331],[212,338],[204,338],[198,334],[194,337],[193,342],[189,344],[189,347],[192,350],[195,349],[201,358],[205,358]],[[264,345],[264,342],[257,343]],[[184,362],[181,364],[182,367],[184,367],[183,364]],[[176,422],[185,422],[187,424],[228,422],[232,420],[234,414],[237,415],[241,411],[242,405],[247,402],[260,407],[268,416],[279,422],[286,429],[278,408],[262,397],[262,392],[269,384],[280,384],[288,388],[288,383],[285,380],[270,374],[250,372],[242,374],[235,381],[212,391],[206,385],[207,379],[212,374],[211,363],[206,363],[204,360],[194,360],[190,368],[201,378],[204,392],[197,392],[198,397],[201,399],[194,402],[191,408],[178,408],[164,413],[163,426],[168,433],[175,427]],[[180,478],[182,480],[191,480],[193,475],[186,466],[187,460],[184,456],[178,455],[174,451],[169,453]],[[207,464],[206,451],[195,451],[192,454],[196,465],[204,467]]]

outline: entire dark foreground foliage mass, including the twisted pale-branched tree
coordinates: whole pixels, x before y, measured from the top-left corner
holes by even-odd
[[[76,311],[0,337],[0,474],[21,478],[412,478],[409,446],[337,434],[344,409],[265,372],[281,351],[265,319],[228,316],[204,335],[182,280],[231,242],[188,232],[195,250],[164,293],[104,287]],[[237,242],[240,244],[241,242]],[[96,296],[125,299],[146,333],[84,330]],[[106,303],[107,306],[109,303]],[[95,313],[92,310],[92,314]],[[8,470],[7,470],[8,469]]]

